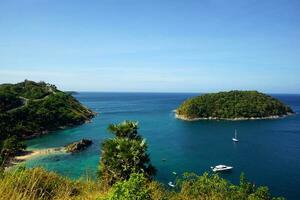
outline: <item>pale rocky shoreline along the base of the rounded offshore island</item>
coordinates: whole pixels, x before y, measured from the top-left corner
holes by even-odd
[[[224,120],[224,121],[246,121],[246,120],[267,120],[267,119],[281,119],[285,118],[287,116],[294,115],[295,113],[287,113],[286,115],[273,115],[268,117],[238,117],[238,118],[218,118],[218,117],[199,117],[199,118],[188,118],[183,115],[177,114],[176,110],[175,112],[175,118],[184,120],[184,121],[201,121],[201,120]]]

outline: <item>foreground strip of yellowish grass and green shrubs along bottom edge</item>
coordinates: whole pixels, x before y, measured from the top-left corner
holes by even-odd
[[[217,174],[202,176],[186,173],[176,188],[148,180],[143,174],[131,174],[128,180],[103,188],[101,182],[77,181],[47,172],[42,168],[19,168],[0,177],[0,200],[7,199],[96,199],[97,200],[283,200],[272,197],[267,187],[256,187],[242,176],[234,185]]]

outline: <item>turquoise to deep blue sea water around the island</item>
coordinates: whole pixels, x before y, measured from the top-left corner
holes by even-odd
[[[224,178],[237,183],[241,172],[257,185],[268,185],[276,195],[300,199],[300,115],[276,120],[198,121],[174,118],[183,100],[196,94],[163,93],[80,93],[83,104],[100,112],[92,123],[28,141],[29,148],[59,147],[81,138],[94,144],[86,151],[69,155],[47,155],[28,161],[60,174],[78,178],[94,174],[99,162],[100,143],[108,137],[109,123],[137,120],[140,133],[149,143],[157,179],[167,183],[189,171],[202,174],[210,166],[234,166]],[[300,95],[273,95],[300,112]],[[231,141],[234,129],[240,142]],[[162,162],[166,159],[166,162]]]

